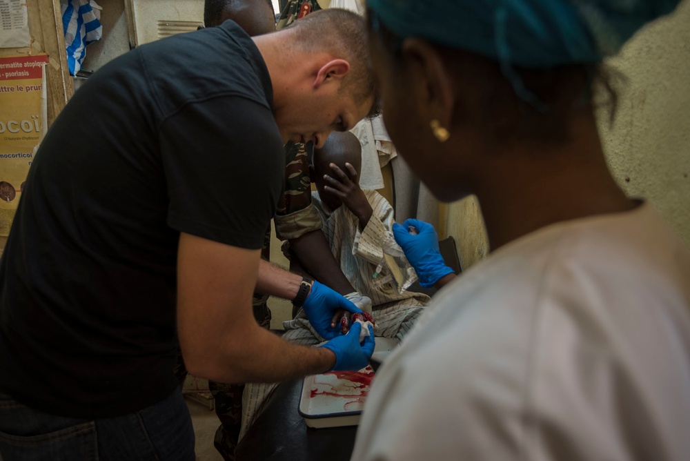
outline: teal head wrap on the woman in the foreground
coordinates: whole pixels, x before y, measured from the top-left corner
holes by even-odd
[[[475,52],[502,67],[597,63],[680,0],[367,0],[373,28]]]

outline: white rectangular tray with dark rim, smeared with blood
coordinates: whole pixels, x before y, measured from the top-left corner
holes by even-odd
[[[382,362],[397,346],[395,340],[376,338],[374,357]],[[304,377],[299,414],[309,427],[356,426],[373,380],[374,371],[331,371]]]

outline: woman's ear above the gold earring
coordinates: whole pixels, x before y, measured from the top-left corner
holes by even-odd
[[[416,67],[417,77],[425,86],[426,112],[441,126],[450,128],[455,110],[455,86],[449,69],[434,46],[421,39],[406,39],[402,45],[404,59]]]

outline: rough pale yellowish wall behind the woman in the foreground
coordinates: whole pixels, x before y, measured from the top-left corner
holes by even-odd
[[[600,133],[613,177],[627,195],[645,197],[690,247],[690,0],[638,32],[607,61],[626,77],[613,125]],[[475,197],[447,207],[452,235],[468,268],[489,251]]]

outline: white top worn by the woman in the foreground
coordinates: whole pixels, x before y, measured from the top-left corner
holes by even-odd
[[[526,235],[377,371],[353,460],[690,460],[690,253],[649,204]]]

